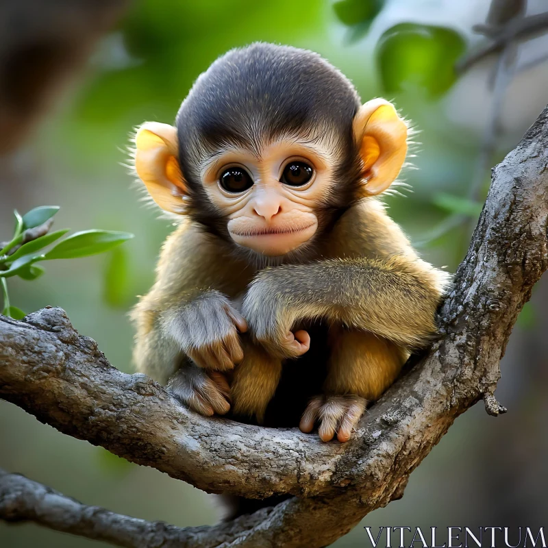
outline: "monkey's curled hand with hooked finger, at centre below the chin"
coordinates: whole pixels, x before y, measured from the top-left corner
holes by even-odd
[[[310,349],[310,335],[292,330],[295,321],[286,314],[266,278],[256,279],[245,296],[242,312],[251,336],[277,358],[297,358]]]

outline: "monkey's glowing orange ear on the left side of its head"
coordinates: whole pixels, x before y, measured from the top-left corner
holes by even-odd
[[[135,171],[163,210],[182,213],[187,186],[179,167],[177,128],[145,122],[135,136]]]

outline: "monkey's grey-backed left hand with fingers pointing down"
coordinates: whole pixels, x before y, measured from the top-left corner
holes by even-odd
[[[243,360],[238,331],[247,331],[247,323],[221,293],[210,291],[172,308],[163,320],[169,335],[200,367],[228,371]]]

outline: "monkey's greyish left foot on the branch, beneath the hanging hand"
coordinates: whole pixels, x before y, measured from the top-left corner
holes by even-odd
[[[224,415],[230,410],[230,387],[218,371],[182,367],[169,379],[166,390],[183,405],[205,416]]]

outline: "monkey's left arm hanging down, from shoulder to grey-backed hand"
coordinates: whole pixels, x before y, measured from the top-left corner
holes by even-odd
[[[162,384],[184,362],[225,371],[242,360],[238,330],[246,323],[227,295],[234,295],[239,272],[208,236],[179,227],[162,249],[151,292],[134,308],[134,361],[139,371]]]

